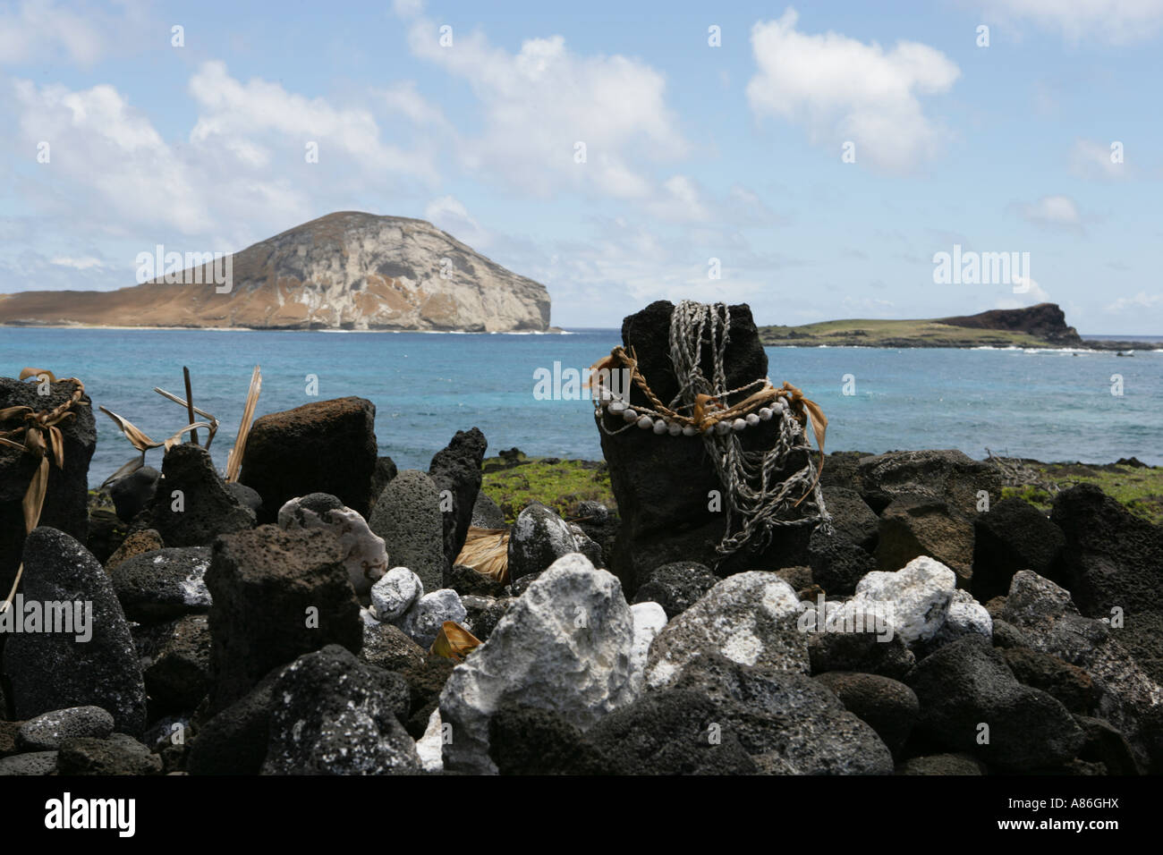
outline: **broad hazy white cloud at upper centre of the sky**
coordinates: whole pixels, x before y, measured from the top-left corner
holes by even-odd
[[[645,63],[573,54],[562,36],[529,38],[514,54],[454,29],[441,47],[440,26],[413,20],[408,43],[476,95],[481,129],[457,141],[469,172],[541,198],[564,188],[643,200],[655,193],[649,165],[687,151],[665,80]]]

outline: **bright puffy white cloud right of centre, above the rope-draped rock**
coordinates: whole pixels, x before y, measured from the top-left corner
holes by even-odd
[[[751,28],[758,66],[747,85],[752,112],[802,124],[837,158],[847,141],[856,144],[856,163],[866,159],[892,172],[932,158],[942,131],[919,95],[948,92],[961,76],[957,65],[918,42],[886,51],[837,33],[801,33],[798,21],[789,7],[780,19]]]

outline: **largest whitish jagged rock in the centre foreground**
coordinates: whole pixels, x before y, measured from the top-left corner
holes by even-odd
[[[495,771],[488,720],[506,700],[555,710],[583,731],[628,704],[633,640],[618,579],[579,554],[556,561],[444,685],[441,719],[455,734],[445,769]]]

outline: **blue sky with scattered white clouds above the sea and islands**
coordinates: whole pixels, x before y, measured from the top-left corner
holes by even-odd
[[[566,328],[1054,301],[1158,335],[1161,106],[1163,0],[0,0],[0,293],[366,211]],[[955,247],[1028,264],[942,282]]]

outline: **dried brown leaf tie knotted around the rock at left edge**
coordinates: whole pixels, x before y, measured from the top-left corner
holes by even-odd
[[[47,377],[49,383],[58,383],[56,376],[44,369],[26,368],[20,372],[20,379],[24,380],[29,377]],[[65,465],[64,435],[60,433],[58,426],[69,419],[77,418],[73,407],[88,406],[86,401],[81,400],[81,397],[85,394],[84,383],[76,377],[70,377],[60,382],[72,383],[76,389],[73,389],[73,393],[69,397],[69,400],[57,405],[52,409],[36,411],[26,406],[0,409],[0,423],[17,416],[22,421],[20,427],[0,430],[0,446],[9,446],[40,458],[36,471],[33,472],[33,478],[28,483],[28,490],[24,491],[24,498],[21,500],[26,535],[36,528],[36,525],[41,521],[41,512],[44,510],[44,494],[49,489],[49,456],[51,455],[52,462],[57,464],[57,469],[64,469]],[[16,578],[12,584],[12,591],[0,603],[0,613],[6,612],[12,605],[23,573],[24,564],[21,562],[16,570]]]

